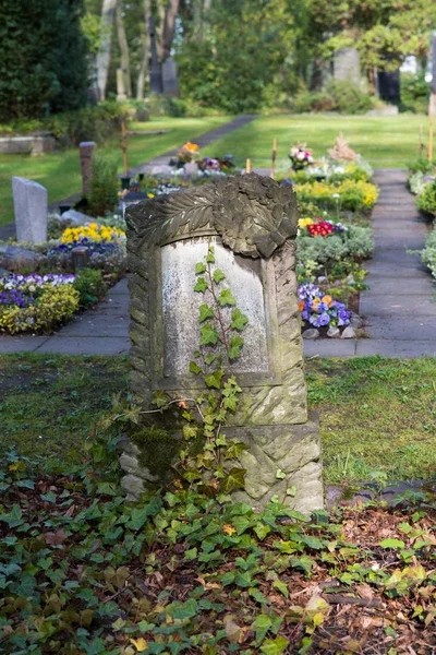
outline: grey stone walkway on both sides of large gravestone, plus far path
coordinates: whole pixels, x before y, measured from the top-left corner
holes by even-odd
[[[239,117],[245,122],[252,118]],[[241,121],[237,124],[241,127]],[[204,138],[209,139],[214,132],[216,130]],[[407,252],[408,249],[423,248],[428,227],[420,219],[414,198],[405,188],[405,174],[398,169],[376,171],[375,181],[380,187],[373,213],[376,249],[366,266],[371,289],[361,297],[361,314],[366,319],[371,338],[306,341],[304,354],[307,357],[436,356],[436,302],[432,277],[422,266],[420,257]],[[126,354],[128,305],[126,282],[122,281],[96,309],[76,317],[55,335],[0,337],[0,353]]]

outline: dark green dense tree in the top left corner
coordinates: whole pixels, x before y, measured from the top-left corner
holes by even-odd
[[[39,118],[86,103],[82,0],[2,0],[0,120]]]

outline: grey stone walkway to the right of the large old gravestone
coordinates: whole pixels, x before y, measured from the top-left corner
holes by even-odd
[[[436,356],[436,302],[432,276],[417,254],[428,226],[420,218],[407,174],[376,170],[380,195],[373,212],[375,252],[365,264],[370,290],[361,295],[360,314],[371,338],[306,342],[307,356],[385,357]]]

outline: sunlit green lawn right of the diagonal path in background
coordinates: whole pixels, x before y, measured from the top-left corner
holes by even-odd
[[[269,166],[272,139],[277,138],[277,169],[287,169],[290,145],[303,142],[319,157],[327,154],[342,131],[351,147],[374,167],[404,168],[419,156],[421,124],[426,135],[428,119],[424,116],[264,116],[220,139],[204,153],[209,156],[232,153],[241,166],[246,157],[253,166]]]

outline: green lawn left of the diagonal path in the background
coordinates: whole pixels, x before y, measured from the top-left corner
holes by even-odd
[[[145,123],[134,122],[135,130],[170,130],[167,134],[129,136],[129,165],[138,166],[168,150],[182,145],[187,140],[219,127],[231,120],[229,116],[207,118],[159,118]],[[107,144],[105,150],[119,153],[120,172],[122,155],[118,139]],[[13,175],[35,180],[47,188],[49,203],[58,202],[82,187],[78,150],[69,148],[52,154],[32,157],[31,155],[0,155],[0,225],[13,221],[11,177]]]

